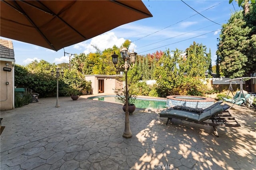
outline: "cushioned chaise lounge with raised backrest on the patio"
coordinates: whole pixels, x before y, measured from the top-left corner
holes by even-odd
[[[223,101],[219,101],[206,109],[190,108],[183,106],[170,107],[162,111],[160,117],[167,117],[166,125],[168,121],[175,119],[181,119],[202,125],[209,125],[214,128],[214,134],[218,137],[217,127],[240,127],[238,122],[229,113],[229,105],[220,105]],[[209,120],[212,121],[209,122]]]

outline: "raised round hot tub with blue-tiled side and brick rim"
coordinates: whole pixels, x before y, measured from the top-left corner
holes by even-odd
[[[214,99],[208,97],[199,96],[167,96],[166,105],[168,107],[173,106],[186,106],[192,108],[202,108],[205,109],[214,104]]]

